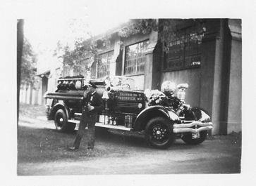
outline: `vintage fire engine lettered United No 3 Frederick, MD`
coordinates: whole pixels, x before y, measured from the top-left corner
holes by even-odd
[[[190,145],[200,144],[212,130],[209,114],[199,107],[186,105],[185,89],[188,84],[165,81],[158,90],[134,90],[134,81],[128,77],[107,77],[102,81],[90,80],[97,85],[97,93],[104,100],[97,127],[123,131],[141,131],[153,147],[169,147],[176,138]],[[81,100],[87,88],[83,77],[58,80],[58,89],[47,93],[52,99],[47,105],[47,118],[53,119],[56,130],[73,131],[79,124]]]

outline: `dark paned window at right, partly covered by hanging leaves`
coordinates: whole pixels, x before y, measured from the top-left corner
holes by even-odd
[[[181,29],[179,36],[169,42],[164,58],[164,69],[176,70],[200,67],[202,36],[193,27]]]

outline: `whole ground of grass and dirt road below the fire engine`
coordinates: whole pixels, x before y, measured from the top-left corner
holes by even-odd
[[[142,135],[97,133],[95,150],[68,152],[75,133],[59,133],[53,121],[21,117],[18,175],[240,173],[240,135],[214,136],[201,145],[182,140],[167,150],[148,147]]]

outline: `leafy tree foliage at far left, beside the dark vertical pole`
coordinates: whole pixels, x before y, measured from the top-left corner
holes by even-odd
[[[20,66],[20,82],[21,84],[34,84],[36,76],[37,56],[32,51],[32,46],[27,39],[23,42],[23,54]]]

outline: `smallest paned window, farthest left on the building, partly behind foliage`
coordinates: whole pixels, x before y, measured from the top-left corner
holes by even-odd
[[[99,54],[97,62],[97,78],[102,78],[109,75],[110,61],[113,55],[114,51]]]

